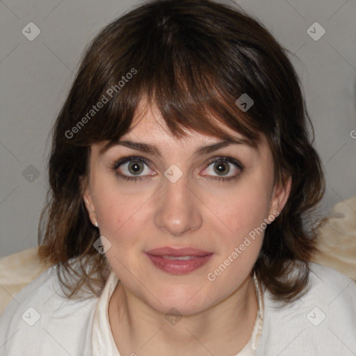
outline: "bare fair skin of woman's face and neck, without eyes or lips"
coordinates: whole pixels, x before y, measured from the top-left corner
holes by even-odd
[[[236,138],[241,135],[234,133]],[[156,111],[140,111],[121,140],[159,147],[161,157],[115,145],[104,154],[104,143],[92,145],[90,177],[84,200],[90,220],[111,242],[106,257],[120,278],[111,297],[108,316],[121,355],[236,355],[251,337],[257,316],[252,267],[264,233],[257,234],[227,268],[208,280],[254,228],[273,212],[282,211],[291,179],[273,186],[273,157],[262,140],[259,150],[229,145],[194,156],[197,147],[219,138],[189,132],[177,140]],[[111,170],[117,159],[140,156],[143,181],[120,179]],[[231,156],[243,165],[221,163],[214,156]],[[214,163],[215,162],[215,163]],[[216,169],[223,164],[225,171]],[[164,172],[175,164],[183,175],[172,183]],[[133,163],[117,169],[133,177]],[[215,167],[215,169],[214,169]],[[237,178],[218,181],[217,177]],[[263,225],[264,226],[264,225]],[[184,275],[156,268],[145,251],[162,246],[192,247],[213,252],[207,264]],[[172,325],[165,318],[177,309],[181,319]]]

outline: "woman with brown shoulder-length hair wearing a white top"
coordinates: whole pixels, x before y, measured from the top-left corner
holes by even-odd
[[[109,24],[56,120],[42,260],[1,355],[350,355],[356,286],[310,263],[325,181],[298,76],[209,0]]]

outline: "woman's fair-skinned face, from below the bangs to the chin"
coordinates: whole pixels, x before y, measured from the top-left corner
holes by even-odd
[[[154,145],[160,155],[127,145],[101,152],[105,143],[92,145],[86,208],[111,243],[106,257],[127,291],[162,313],[173,307],[202,312],[248,279],[291,180],[273,186],[265,139],[258,150],[229,144],[197,154],[221,140],[197,132],[177,140],[155,108],[139,119],[120,141]],[[173,257],[181,248],[198,251]]]

